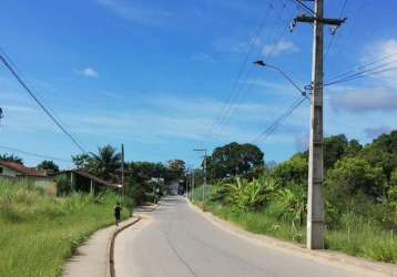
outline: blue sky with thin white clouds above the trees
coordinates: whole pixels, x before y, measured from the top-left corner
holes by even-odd
[[[339,17],[344,1],[326,1],[326,16]],[[394,0],[349,0],[325,80],[397,53],[396,10]],[[0,47],[88,151],[124,143],[126,160],[198,165],[194,147],[251,142],[298,96],[278,74],[252,66],[256,58],[309,83],[312,28],[287,30],[299,13],[289,0],[4,0]],[[0,106],[0,146],[61,158],[79,153],[4,66]],[[267,161],[305,147],[308,111],[304,103],[259,142]],[[397,71],[326,88],[324,116],[325,134],[362,143],[397,129]],[[41,161],[19,155],[29,165]]]

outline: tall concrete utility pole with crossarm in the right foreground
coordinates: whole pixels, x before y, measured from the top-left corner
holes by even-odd
[[[298,1],[302,6],[306,7]],[[314,0],[313,17],[301,16],[296,22],[314,24],[313,34],[313,68],[312,68],[312,99],[311,99],[311,141],[308,164],[308,197],[307,197],[307,238],[308,249],[324,248],[324,153],[323,153],[323,49],[324,24],[339,27],[345,19],[324,18],[324,0]],[[307,7],[306,7],[307,8]],[[309,8],[307,10],[312,11]]]

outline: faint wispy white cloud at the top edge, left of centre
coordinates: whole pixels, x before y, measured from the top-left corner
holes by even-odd
[[[143,25],[162,24],[171,17],[167,11],[138,8],[123,0],[96,0],[96,2],[123,20]]]

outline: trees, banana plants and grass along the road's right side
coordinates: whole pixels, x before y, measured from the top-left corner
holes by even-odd
[[[206,209],[250,232],[305,244],[307,152],[265,165],[258,148],[246,148],[227,144],[208,157]],[[364,146],[327,137],[324,162],[326,248],[397,263],[397,131]],[[193,195],[201,206],[202,187]]]

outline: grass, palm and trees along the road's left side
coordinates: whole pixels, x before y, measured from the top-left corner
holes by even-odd
[[[79,170],[112,184],[120,184],[121,154],[111,145],[96,153],[73,156]],[[1,161],[23,160],[0,154]],[[49,173],[60,168],[52,161],[38,166]],[[27,179],[0,177],[0,276],[59,276],[62,265],[99,228],[114,223],[113,207],[123,205],[126,218],[136,205],[156,202],[166,183],[181,179],[181,160],[167,164],[125,162],[125,191],[89,194],[72,192],[69,179],[55,177],[53,186],[35,187]],[[100,191],[100,189],[99,189]]]

